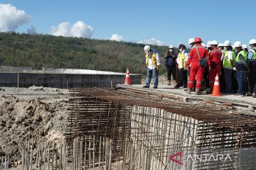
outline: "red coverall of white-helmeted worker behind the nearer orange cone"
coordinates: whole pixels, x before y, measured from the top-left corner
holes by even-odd
[[[214,81],[215,81],[216,74],[217,73],[220,74],[221,56],[222,56],[222,52],[220,50],[218,50],[218,48],[216,48],[216,47],[213,50],[210,51],[208,65],[209,65],[209,68],[210,68],[209,85],[210,85],[211,88],[213,88],[213,86],[214,86]]]

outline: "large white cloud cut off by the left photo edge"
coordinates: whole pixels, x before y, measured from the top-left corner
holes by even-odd
[[[14,31],[30,20],[31,16],[26,15],[25,11],[11,4],[0,4],[0,32]]]

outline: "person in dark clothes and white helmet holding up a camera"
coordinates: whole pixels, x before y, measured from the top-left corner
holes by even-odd
[[[166,72],[167,72],[167,85],[171,85],[171,74],[176,69],[175,61],[177,56],[174,53],[174,46],[169,45],[169,50],[164,55]],[[174,77],[173,77],[174,78]]]

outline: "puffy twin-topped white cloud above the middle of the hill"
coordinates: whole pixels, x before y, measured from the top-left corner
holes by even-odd
[[[53,26],[51,28],[51,34],[64,37],[91,38],[93,28],[91,26],[87,26],[82,21],[78,21],[73,25],[68,22],[64,22],[60,23],[58,26]]]

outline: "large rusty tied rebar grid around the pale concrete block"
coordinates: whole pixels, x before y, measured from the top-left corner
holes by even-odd
[[[181,168],[169,156],[184,148],[255,147],[254,115],[204,109],[139,91],[92,88],[70,92],[68,141],[80,135],[109,137],[113,140],[112,157],[123,159],[128,169]],[[251,163],[237,159],[223,164],[186,162],[182,166],[239,169]]]

